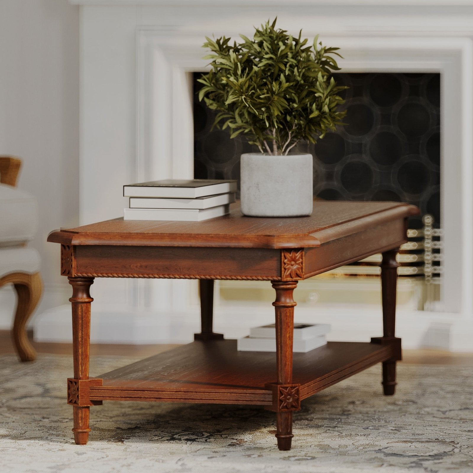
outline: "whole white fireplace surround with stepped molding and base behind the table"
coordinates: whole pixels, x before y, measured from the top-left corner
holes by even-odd
[[[384,15],[382,9],[375,8],[362,9],[361,14],[344,14],[340,7],[333,6],[372,4],[369,0],[332,1],[332,7],[324,7],[323,17],[314,5],[327,2],[316,1],[291,4],[306,5],[300,8],[300,14],[294,8],[280,6],[281,2],[276,0],[258,0],[252,7],[237,9],[227,7],[228,2],[210,8],[206,6],[210,1],[190,0],[172,7],[161,6],[166,2],[158,1],[72,3],[82,4],[81,224],[120,215],[124,201],[104,197],[117,195],[117,189],[128,181],[193,177],[191,79],[193,71],[206,70],[207,61],[201,59],[205,53],[201,48],[204,35],[250,35],[253,24],[277,14],[281,27],[292,32],[303,28],[303,35],[309,38],[319,33],[324,44],[340,47],[344,59],[339,65],[344,72],[440,72],[445,309],[442,313],[400,313],[398,333],[407,346],[415,347],[429,344],[426,334],[432,329],[443,331],[450,348],[472,350],[473,10],[469,16],[455,11],[451,15],[441,11],[436,14],[432,10],[429,17],[419,21],[419,12],[414,11],[411,16],[405,7]],[[89,5],[92,3],[95,5]],[[123,4],[127,6],[116,6]],[[183,8],[182,4],[187,6]],[[447,3],[418,0],[415,4]],[[462,4],[466,2],[455,2]],[[110,166],[114,167],[112,171]],[[195,284],[182,280],[96,280],[96,341],[189,339],[199,323]],[[38,340],[69,337],[66,310],[69,309],[60,307],[36,318]],[[236,328],[241,326],[234,319],[241,319],[243,313],[243,319],[245,314],[247,319],[242,324],[251,322],[260,309],[242,306],[225,307],[225,313],[219,310],[217,304],[217,328],[239,335],[241,330]],[[301,310],[314,318],[317,307]],[[332,310],[332,314],[336,312],[336,308]],[[269,313],[270,309],[258,316],[264,321]],[[374,322],[373,314],[356,309],[355,313],[356,322],[343,308],[333,315],[335,338],[359,339],[362,333],[365,337],[376,335],[379,322]],[[112,318],[114,329],[107,331],[105,327]]]

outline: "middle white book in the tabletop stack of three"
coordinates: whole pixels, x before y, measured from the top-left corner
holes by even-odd
[[[130,209],[210,209],[235,202],[235,193],[209,195],[196,199],[130,197]]]

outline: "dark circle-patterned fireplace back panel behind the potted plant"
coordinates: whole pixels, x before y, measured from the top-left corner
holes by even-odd
[[[201,84],[193,74],[193,88]],[[440,226],[440,74],[340,73],[344,127],[298,150],[314,156],[314,195],[327,200],[404,201]],[[194,177],[239,179],[240,155],[258,152],[239,135],[211,130],[215,114],[194,94]],[[294,149],[296,151],[296,149]]]

